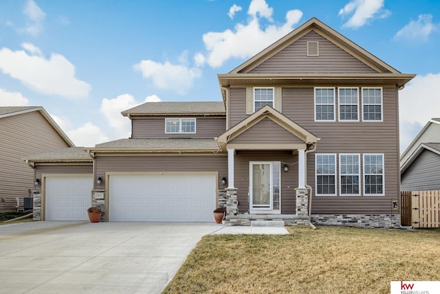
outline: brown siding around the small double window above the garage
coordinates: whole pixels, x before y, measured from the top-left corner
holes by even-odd
[[[142,138],[169,138],[169,137],[192,137],[212,138],[221,135],[226,131],[225,117],[195,117],[196,133],[168,134],[165,133],[165,117],[154,118],[133,118],[132,135],[133,139]]]

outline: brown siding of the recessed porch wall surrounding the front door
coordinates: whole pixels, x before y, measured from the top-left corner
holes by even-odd
[[[249,162],[250,161],[282,161],[281,163],[281,213],[295,214],[296,192],[298,187],[298,155],[292,151],[236,151],[234,157],[234,184],[237,188],[239,212],[249,210]],[[289,171],[284,172],[283,166],[289,164]],[[292,164],[293,163],[293,164]]]

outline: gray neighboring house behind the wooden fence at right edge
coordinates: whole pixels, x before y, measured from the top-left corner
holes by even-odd
[[[432,118],[400,157],[402,191],[440,190],[440,118]]]

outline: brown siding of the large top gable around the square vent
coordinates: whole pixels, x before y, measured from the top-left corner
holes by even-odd
[[[319,42],[319,56],[307,56],[307,41]],[[249,74],[377,73],[320,34],[311,31],[270,57]]]

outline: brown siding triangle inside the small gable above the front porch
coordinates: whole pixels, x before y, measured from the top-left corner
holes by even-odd
[[[269,118],[258,122],[247,131],[230,141],[231,144],[304,144]]]

